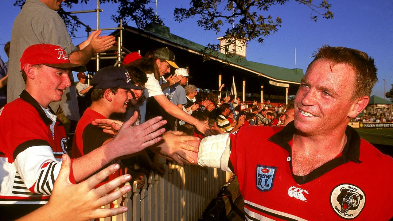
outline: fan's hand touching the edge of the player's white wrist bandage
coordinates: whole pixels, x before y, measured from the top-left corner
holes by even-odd
[[[150,149],[165,158],[169,157],[179,164],[185,162],[194,164],[195,160],[186,154],[185,151],[198,153],[198,146],[195,147],[184,142],[198,140],[198,137],[184,135],[181,131],[168,131],[162,135],[162,141],[150,147]]]

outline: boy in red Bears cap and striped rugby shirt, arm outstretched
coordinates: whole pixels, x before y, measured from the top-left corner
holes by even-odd
[[[11,220],[48,202],[61,155],[67,153],[64,128],[49,104],[62,99],[72,70],[85,71],[83,65],[70,63],[60,46],[51,44],[29,46],[20,64],[26,90],[0,109],[0,214]],[[161,140],[156,136],[163,130],[151,132],[165,121],[158,122],[158,117],[142,127],[130,127],[133,120],[124,123],[113,142],[73,159],[70,181],[79,182],[115,158]]]

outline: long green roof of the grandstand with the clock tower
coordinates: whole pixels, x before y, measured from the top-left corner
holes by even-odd
[[[185,48],[189,48],[196,52],[200,52],[205,47],[201,44],[197,44],[195,42],[189,41],[177,35],[171,34],[169,28],[163,25],[151,24],[145,28],[145,32],[150,33],[151,35],[158,36],[169,42],[173,42],[175,44],[181,45]],[[224,57],[225,55],[219,52],[216,58],[220,60],[224,60]],[[228,61],[232,64],[242,66],[243,68],[261,73],[263,75],[281,81],[292,81],[292,82],[300,83],[301,78],[304,76],[303,70],[299,68],[288,69],[278,66],[272,66],[269,64],[247,61],[245,57],[239,55],[235,55],[234,57],[228,59]]]

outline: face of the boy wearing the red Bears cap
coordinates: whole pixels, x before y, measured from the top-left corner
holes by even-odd
[[[35,67],[33,72],[35,73],[35,78],[32,87],[40,89],[41,92],[32,94],[32,96],[40,105],[46,108],[53,101],[61,101],[64,90],[71,85],[69,77],[71,70],[42,65],[39,68]]]

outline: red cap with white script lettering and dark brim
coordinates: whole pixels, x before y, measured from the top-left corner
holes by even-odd
[[[70,68],[76,72],[85,72],[86,67],[82,64],[70,62],[67,53],[57,45],[33,44],[24,50],[20,58],[20,70],[25,64],[44,64],[52,68]]]

